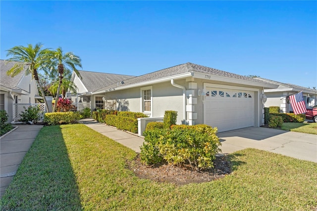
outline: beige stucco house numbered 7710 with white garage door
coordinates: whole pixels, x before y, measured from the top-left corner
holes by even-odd
[[[264,88],[277,87],[256,78],[185,63],[106,85],[92,96],[104,97],[106,103],[115,101],[117,110],[143,112],[152,118],[175,110],[177,124],[205,123],[222,132],[263,125]]]

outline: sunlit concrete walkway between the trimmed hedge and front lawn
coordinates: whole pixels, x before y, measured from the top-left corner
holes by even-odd
[[[99,123],[92,118],[81,119],[79,122],[137,153],[141,152],[140,147],[143,145],[144,139],[137,135]]]

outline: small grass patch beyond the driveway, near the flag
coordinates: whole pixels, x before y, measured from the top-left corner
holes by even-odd
[[[317,123],[284,122],[281,129],[317,135]]]

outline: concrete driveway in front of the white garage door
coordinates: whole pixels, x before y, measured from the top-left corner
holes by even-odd
[[[264,127],[249,127],[218,133],[222,153],[255,148],[317,162],[317,135]]]

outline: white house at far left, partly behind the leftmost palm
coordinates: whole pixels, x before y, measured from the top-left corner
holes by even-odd
[[[13,78],[6,75],[15,63],[0,60],[0,110],[6,110],[9,115],[8,122],[12,121],[13,104],[38,103],[37,99],[42,99],[31,74],[25,75],[25,71],[22,71]]]

